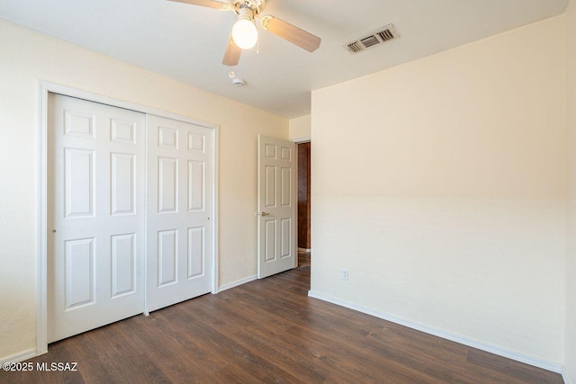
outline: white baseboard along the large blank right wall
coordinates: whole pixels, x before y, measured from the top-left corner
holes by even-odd
[[[535,366],[537,368],[542,368],[543,370],[546,370],[546,371],[553,371],[554,373],[562,373],[563,374],[562,365],[555,363],[555,362],[547,362],[545,360],[537,359],[535,357],[528,356],[528,355],[525,355],[522,353],[518,353],[516,351],[511,351],[511,350],[502,348],[502,347],[497,346],[497,345],[486,344],[486,343],[483,343],[483,342],[478,341],[478,340],[467,338],[463,335],[451,334],[449,332],[446,332],[445,330],[437,329],[433,326],[427,326],[425,324],[419,324],[417,322],[406,320],[406,319],[403,319],[401,317],[395,317],[393,315],[390,315],[390,314],[387,314],[387,313],[384,313],[381,311],[377,311],[374,309],[365,308],[365,307],[356,305],[355,303],[352,303],[349,301],[336,299],[336,298],[330,297],[329,295],[324,295],[320,292],[316,292],[313,290],[308,291],[308,296],[310,296],[311,298],[314,298],[314,299],[320,299],[323,301],[328,301],[329,303],[336,304],[340,307],[354,309],[358,312],[362,312],[362,313],[365,313],[367,315],[379,317],[379,318],[382,318],[383,320],[390,321],[392,323],[399,324],[401,326],[407,326],[407,327],[415,329],[417,331],[424,332],[428,335],[435,335],[437,337],[442,337],[443,339],[450,340],[450,341],[453,341],[453,342],[458,343],[458,344],[468,345],[470,347],[480,349],[480,350],[488,352],[488,353],[498,354],[499,356],[506,357],[508,359],[515,360],[517,362],[524,362],[525,364],[532,365],[532,366]],[[566,380],[566,379],[564,378],[564,380]],[[570,383],[570,384],[572,384],[572,383]]]

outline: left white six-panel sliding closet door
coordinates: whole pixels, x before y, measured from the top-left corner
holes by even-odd
[[[145,123],[49,94],[49,343],[143,311]]]

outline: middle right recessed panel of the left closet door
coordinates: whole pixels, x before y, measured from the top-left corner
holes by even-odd
[[[111,154],[110,186],[111,186],[111,214],[134,214],[134,201],[136,199],[136,158],[134,155]]]

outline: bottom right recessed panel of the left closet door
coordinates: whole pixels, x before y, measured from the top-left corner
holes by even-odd
[[[136,275],[136,234],[111,238],[112,298],[134,293]]]

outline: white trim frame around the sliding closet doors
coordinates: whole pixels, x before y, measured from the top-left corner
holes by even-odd
[[[36,351],[34,356],[48,352],[48,221],[47,221],[47,182],[48,182],[48,95],[62,94],[64,96],[76,97],[88,102],[101,103],[111,105],[112,107],[124,108],[127,110],[142,112],[145,114],[154,114],[166,119],[176,121],[189,122],[199,125],[208,129],[213,129],[213,148],[212,148],[212,164],[213,164],[213,185],[212,185],[212,217],[211,220],[211,246],[212,246],[212,270],[211,270],[211,293],[218,293],[218,147],[219,147],[219,126],[206,121],[198,121],[186,116],[178,115],[175,113],[164,112],[149,108],[137,103],[123,102],[121,100],[113,99],[112,97],[103,96],[100,94],[93,94],[90,92],[81,91],[66,85],[58,85],[46,81],[39,81],[38,83],[38,175],[37,175],[37,241],[38,252],[36,255]],[[148,129],[148,127],[146,127]],[[148,143],[147,143],[148,144]],[[147,146],[148,155],[148,146]],[[148,183],[148,176],[147,181]],[[147,242],[148,239],[145,240]],[[148,244],[148,243],[146,243]],[[146,264],[146,262],[145,262]],[[146,275],[146,266],[145,266]],[[146,298],[146,293],[145,293]],[[146,306],[145,306],[146,308]],[[145,313],[145,308],[142,308],[142,313]],[[30,356],[33,357],[33,356]]]

